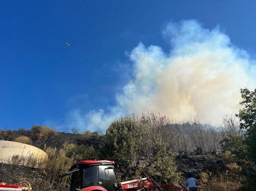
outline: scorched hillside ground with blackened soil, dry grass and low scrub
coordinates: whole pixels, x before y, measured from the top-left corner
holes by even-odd
[[[15,138],[19,136],[27,136],[31,139],[31,145],[43,150],[50,149],[50,153],[54,152],[51,154],[51,159],[45,162],[54,167],[54,171],[49,171],[47,167],[41,169],[35,166],[1,164],[0,180],[8,183],[17,183],[26,179],[31,182],[34,191],[42,190],[37,187],[38,183],[45,185],[46,190],[56,190],[57,187],[60,189],[66,184],[68,185],[70,180],[65,179],[60,185],[60,182],[55,182],[54,177],[64,174],[77,160],[94,160],[94,158],[112,160],[109,155],[111,153],[107,153],[107,155],[104,154],[104,152],[110,151],[110,148],[104,146],[104,144],[107,144],[107,134],[102,135],[88,131],[82,134],[51,131],[51,133],[47,133],[46,136],[41,136],[38,133],[35,133],[35,129],[34,131],[26,131],[23,129],[18,131],[0,131],[1,140],[14,141]],[[115,137],[115,135],[111,136]],[[66,143],[68,144],[66,145]],[[161,146],[160,143],[160,147],[163,146],[164,145]],[[56,150],[51,148],[56,148]],[[91,150],[91,148],[93,150]],[[163,148],[165,148],[165,146]],[[227,162],[221,154],[196,154],[196,152],[194,152],[188,153],[187,155],[180,155],[178,152],[174,152],[172,154],[173,162],[170,162],[180,174],[177,184],[184,187],[186,177],[191,173],[200,182],[199,187],[202,191],[226,190],[227,187],[230,187],[230,190],[242,189],[243,182],[245,181],[243,175],[244,170],[242,171],[242,169],[240,169],[241,167],[237,168],[232,155],[228,155],[230,161]],[[161,156],[166,157],[164,155]],[[152,158],[153,156],[150,157]],[[172,157],[170,159],[172,160]],[[158,169],[156,162],[152,161],[153,163],[148,166],[148,163],[146,163],[144,159],[140,159],[140,161],[139,166],[132,166],[126,169],[126,167],[122,165],[122,161],[117,159],[115,163],[119,165],[116,166],[116,172],[118,173],[119,178],[121,180],[131,180],[151,175],[154,176],[154,179],[160,182],[163,181],[160,176],[160,169]],[[232,161],[234,162],[231,163]],[[58,165],[55,165],[55,163],[58,163]],[[227,165],[230,163],[234,164],[234,167],[227,168]],[[161,162],[160,165],[162,166],[165,164]],[[49,177],[49,174],[54,174],[54,176]],[[236,182],[236,184],[234,184],[234,182]],[[164,182],[162,182],[162,184],[163,183]],[[208,185],[212,186],[213,189],[208,189]],[[235,186],[232,187],[232,185]]]

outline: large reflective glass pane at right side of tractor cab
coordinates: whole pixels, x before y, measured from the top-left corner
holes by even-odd
[[[116,177],[114,174],[113,166],[100,166],[99,169],[99,181],[100,186],[108,191],[115,191],[113,184],[116,183]]]

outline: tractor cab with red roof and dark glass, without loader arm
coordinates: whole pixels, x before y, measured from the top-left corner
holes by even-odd
[[[72,173],[70,191],[81,189],[115,191],[113,161],[80,161],[70,168],[70,173]]]

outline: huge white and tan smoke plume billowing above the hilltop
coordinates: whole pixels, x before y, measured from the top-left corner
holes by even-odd
[[[142,111],[174,120],[197,116],[213,125],[221,124],[226,114],[238,113],[240,88],[256,87],[255,61],[246,51],[233,46],[218,27],[206,29],[195,20],[169,23],[163,36],[170,52],[140,42],[129,54],[133,75],[116,95],[116,106],[109,113],[74,117],[77,124],[83,121],[81,128],[104,130],[120,115]]]

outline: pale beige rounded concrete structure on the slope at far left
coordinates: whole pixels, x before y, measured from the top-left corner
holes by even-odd
[[[33,154],[33,156],[41,158],[46,157],[47,154],[34,146],[27,145],[24,143],[18,143],[13,141],[3,141],[0,140],[0,162],[5,163],[7,158],[13,155],[28,156]]]

